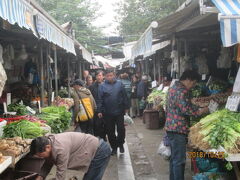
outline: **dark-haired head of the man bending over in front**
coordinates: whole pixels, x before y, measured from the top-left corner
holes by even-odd
[[[47,137],[35,138],[30,147],[30,153],[40,158],[48,158],[52,153],[52,146]]]

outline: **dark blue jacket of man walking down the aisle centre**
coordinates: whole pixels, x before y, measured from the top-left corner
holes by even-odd
[[[129,109],[129,100],[126,90],[120,81],[109,83],[105,81],[99,86],[97,112],[107,115],[121,115]]]

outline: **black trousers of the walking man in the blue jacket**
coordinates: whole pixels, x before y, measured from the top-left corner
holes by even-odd
[[[112,149],[117,149],[125,142],[124,115],[104,115],[104,120],[109,143]],[[117,126],[117,136],[115,134],[115,126]]]

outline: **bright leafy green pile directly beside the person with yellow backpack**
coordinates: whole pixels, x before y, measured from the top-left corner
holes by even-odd
[[[53,133],[61,133],[65,131],[71,121],[71,113],[65,107],[50,106],[42,109],[39,118],[45,120],[47,125],[52,128]]]

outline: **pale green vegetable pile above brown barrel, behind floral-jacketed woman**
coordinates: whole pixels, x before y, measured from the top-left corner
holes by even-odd
[[[163,91],[154,89],[148,96],[147,102],[153,104],[154,109],[160,109],[166,105],[166,96],[167,94]]]

